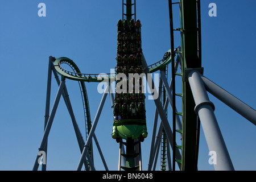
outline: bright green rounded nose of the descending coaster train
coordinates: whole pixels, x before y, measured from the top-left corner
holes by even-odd
[[[141,139],[147,137],[147,126],[145,119],[122,119],[115,120],[112,130],[113,139]]]

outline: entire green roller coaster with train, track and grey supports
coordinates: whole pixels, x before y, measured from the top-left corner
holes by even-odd
[[[172,6],[176,4],[180,6],[181,27],[174,29]],[[169,14],[171,49],[163,55],[160,61],[152,65],[147,65],[146,58],[143,55],[143,40],[141,39],[143,27],[141,27],[140,22],[136,19],[135,0],[122,1],[122,19],[117,24],[117,67],[115,73],[104,75],[81,73],[75,62],[68,57],[49,57],[44,134],[39,146],[38,155],[36,155],[33,170],[38,170],[38,161],[42,158],[42,152],[47,154],[48,135],[61,96],[63,96],[65,105],[71,115],[81,152],[77,170],[81,170],[83,165],[86,171],[95,170],[92,139],[96,143],[105,169],[108,170],[108,165],[105,162],[104,155],[94,133],[108,94],[110,95],[113,110],[113,113],[110,113],[113,115],[113,130],[109,132],[109,136],[112,136],[119,144],[119,171],[122,169],[125,171],[142,171],[141,144],[143,144],[144,139],[147,139],[148,132],[150,132],[152,137],[147,168],[149,171],[155,169],[154,159],[160,145],[161,170],[166,171],[168,164],[169,170],[175,171],[177,164],[182,171],[196,171],[199,157],[200,125],[204,130],[209,151],[216,151],[218,154],[214,169],[234,170],[214,115],[214,104],[209,101],[207,92],[237,111],[237,113],[254,125],[256,124],[256,111],[203,76],[204,68],[201,67],[200,0],[180,0],[179,2],[169,0]],[[180,31],[181,47],[174,47],[174,31]],[[70,70],[63,65],[68,65]],[[171,65],[170,83],[167,81],[169,65]],[[178,67],[180,67],[180,73],[177,73]],[[51,94],[52,73],[59,85],[59,89],[50,113],[49,98]],[[122,73],[121,79],[117,78],[118,73]],[[139,78],[129,77],[130,74],[134,75],[135,73],[138,73]],[[143,102],[143,86],[140,83],[146,77],[146,81],[154,85],[150,73],[160,73],[159,90],[156,90],[156,86],[150,88],[151,93],[158,93],[158,97],[154,98],[156,106],[154,121],[151,118],[146,119],[147,106]],[[61,76],[61,80],[58,75]],[[175,77],[180,77],[182,93],[176,93]],[[65,85],[65,80],[67,79],[79,82],[84,106],[86,140],[82,137],[77,126],[67,86]],[[90,82],[106,83],[105,91],[102,94],[102,99],[93,122],[90,117],[85,82],[88,84]],[[112,82],[115,82],[116,85],[114,92],[111,86]],[[136,83],[138,83],[138,90],[134,89]],[[118,89],[120,90],[122,86],[127,86],[127,88],[124,92],[119,93]],[[178,112],[176,109],[176,97],[182,98],[181,112]],[[172,109],[172,126],[166,116],[169,104]],[[158,116],[161,119],[159,128],[157,128]],[[147,131],[149,121],[153,123],[152,131]],[[158,131],[156,131],[157,129]],[[181,145],[177,145],[176,133],[180,134]],[[42,164],[42,170],[46,170],[46,164]]]

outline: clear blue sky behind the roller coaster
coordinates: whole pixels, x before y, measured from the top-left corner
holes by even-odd
[[[46,4],[46,17],[38,4]],[[217,17],[210,17],[209,3]],[[256,2],[201,1],[202,63],[204,75],[256,108],[255,47]],[[69,57],[82,73],[109,73],[115,67],[117,21],[122,1],[26,0],[0,2],[0,170],[31,170],[43,136],[48,57]],[[147,63],[162,59],[170,49],[168,1],[137,1],[142,23],[142,48]],[[174,8],[174,26],[179,10]],[[175,32],[175,47],[180,46]],[[57,84],[52,77],[51,104]],[[170,80],[170,78],[169,78]],[[67,80],[77,123],[85,137],[79,85]],[[96,83],[86,83],[92,121],[100,104]],[[178,88],[177,88],[178,89]],[[209,94],[216,118],[236,170],[255,170],[255,126]],[[178,104],[179,105],[179,104]],[[146,101],[148,138],[142,143],[143,169],[147,168],[154,101]],[[171,113],[171,111],[168,111]],[[171,114],[169,114],[171,121]],[[112,139],[112,109],[107,98],[96,129],[108,167],[118,166],[119,145]],[[104,169],[94,147],[96,169]],[[208,147],[200,135],[199,170],[214,170]],[[48,170],[75,170],[80,151],[67,108],[61,99],[48,138]],[[156,169],[159,169],[159,164]]]

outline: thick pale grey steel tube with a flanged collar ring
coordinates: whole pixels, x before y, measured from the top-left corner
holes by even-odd
[[[188,74],[188,81],[196,104],[195,112],[199,115],[209,151],[214,151],[217,154],[215,156],[216,163],[213,163],[214,169],[216,171],[233,171],[234,167],[228,149],[213,113],[214,105],[209,101],[200,73],[196,70],[191,71]]]

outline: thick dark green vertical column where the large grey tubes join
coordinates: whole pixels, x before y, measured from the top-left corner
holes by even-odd
[[[197,115],[191,88],[185,82],[187,68],[200,68],[198,57],[197,1],[180,0],[181,22],[181,71],[183,76],[183,140],[181,154],[182,170],[197,170]]]

